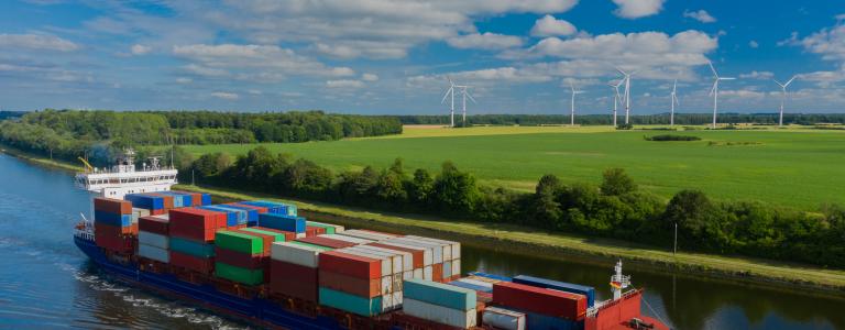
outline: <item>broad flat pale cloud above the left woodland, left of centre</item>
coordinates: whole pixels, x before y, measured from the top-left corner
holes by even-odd
[[[292,50],[268,45],[177,45],[173,53],[191,63],[184,68],[200,76],[231,76],[243,80],[278,81],[286,75],[352,76],[348,67],[328,67]]]

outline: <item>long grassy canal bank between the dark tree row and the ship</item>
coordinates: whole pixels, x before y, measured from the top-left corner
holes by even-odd
[[[178,189],[206,191],[223,199],[275,199],[261,194],[246,194],[196,186]],[[845,271],[824,270],[808,265],[759,260],[678,253],[655,250],[616,240],[594,239],[562,233],[548,233],[519,226],[448,220],[415,215],[373,212],[358,208],[339,207],[301,200],[296,202],[304,216],[350,227],[380,228],[408,233],[428,233],[460,240],[469,244],[484,244],[509,250],[544,251],[551,255],[579,255],[593,258],[623,258],[627,263],[661,270],[679,270],[695,275],[769,283],[790,287],[813,288],[845,295]]]

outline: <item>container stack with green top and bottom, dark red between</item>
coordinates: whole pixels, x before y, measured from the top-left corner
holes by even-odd
[[[267,256],[283,234],[262,230],[221,230],[215,235],[215,275],[245,285],[264,283]]]

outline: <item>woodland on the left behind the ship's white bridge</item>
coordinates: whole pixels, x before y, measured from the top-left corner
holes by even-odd
[[[7,116],[7,112],[2,112]],[[0,143],[44,156],[91,157],[106,165],[124,146],[330,141],[402,133],[396,118],[321,111],[238,113],[212,111],[77,111],[10,113]],[[98,155],[105,155],[99,157]]]

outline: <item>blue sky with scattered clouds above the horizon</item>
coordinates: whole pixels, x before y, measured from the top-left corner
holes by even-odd
[[[845,112],[835,0],[222,0],[0,3],[0,109],[446,114]],[[624,90],[622,90],[624,92]],[[461,110],[461,95],[457,95]]]

